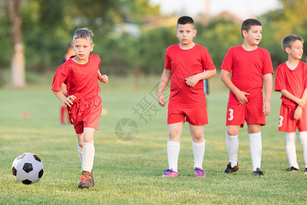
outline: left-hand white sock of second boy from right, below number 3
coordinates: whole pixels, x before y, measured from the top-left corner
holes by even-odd
[[[239,137],[238,135],[228,135],[226,133],[226,148],[231,167],[238,164]]]

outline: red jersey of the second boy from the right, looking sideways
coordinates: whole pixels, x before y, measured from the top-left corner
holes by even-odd
[[[248,102],[260,102],[263,100],[263,75],[273,73],[273,66],[269,52],[261,47],[254,51],[246,51],[243,46],[231,47],[221,66],[228,72],[232,71],[231,81],[243,92]],[[238,102],[235,94],[230,91],[229,103]]]

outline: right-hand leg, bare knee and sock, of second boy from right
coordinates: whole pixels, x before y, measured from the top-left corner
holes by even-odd
[[[253,171],[261,168],[262,141],[261,125],[248,124],[248,137],[250,137],[250,154],[252,156]]]

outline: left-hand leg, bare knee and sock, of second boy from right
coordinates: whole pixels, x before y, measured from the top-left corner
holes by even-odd
[[[226,132],[226,148],[231,167],[238,164],[239,131],[241,125],[228,125]]]

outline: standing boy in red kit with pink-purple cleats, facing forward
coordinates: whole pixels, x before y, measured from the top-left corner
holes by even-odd
[[[204,79],[216,74],[209,52],[193,42],[196,36],[193,19],[189,16],[178,18],[176,36],[179,44],[169,46],[165,55],[165,66],[157,91],[159,105],[166,104],[163,91],[170,82],[168,105],[168,165],[163,177],[178,176],[178,156],[183,123],[189,122],[193,139],[194,173],[205,178],[202,169],[204,159],[204,124],[208,124]],[[205,70],[205,72],[204,72]]]

